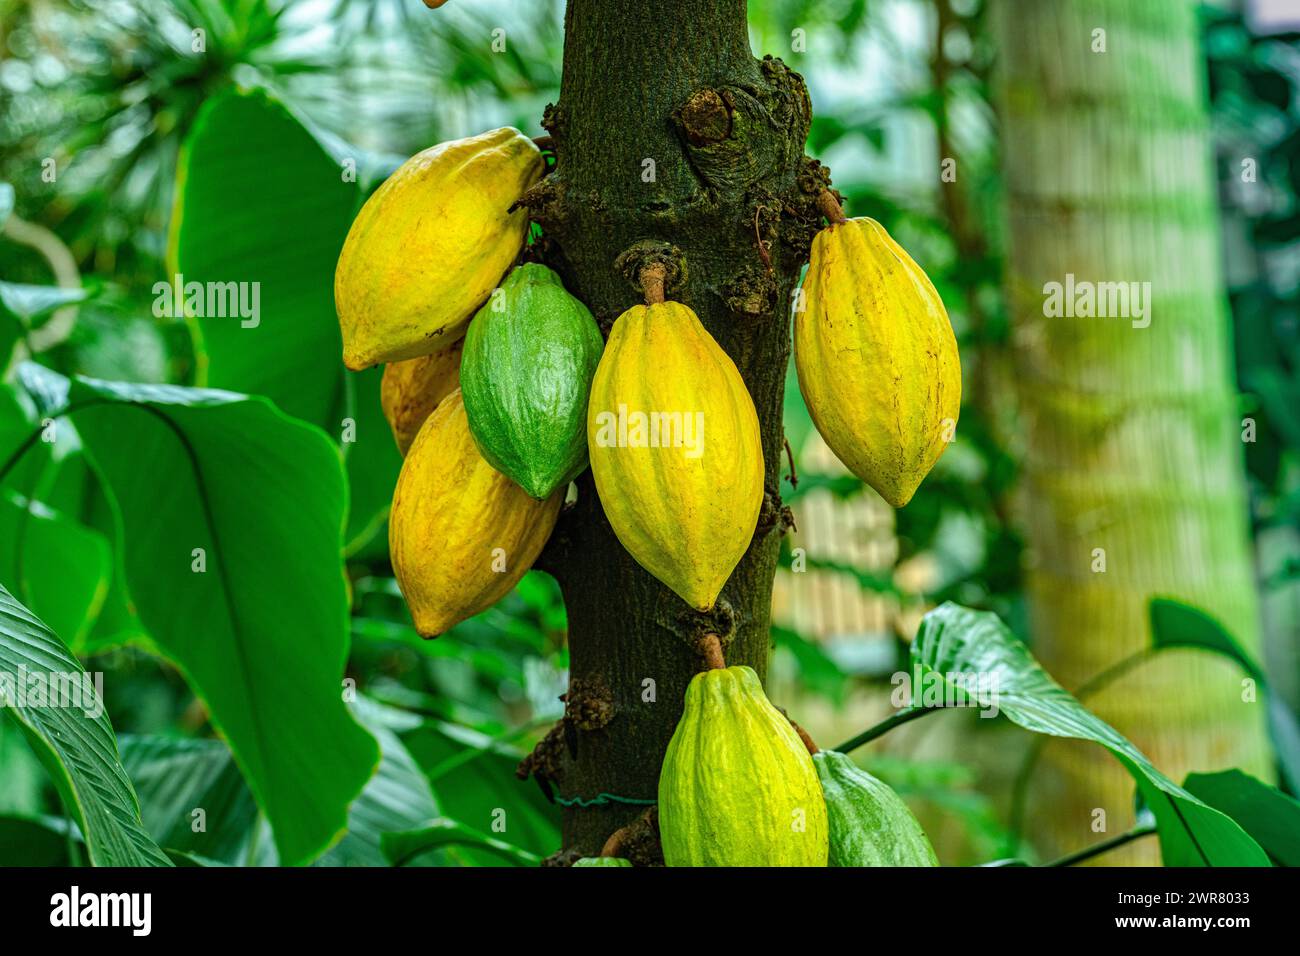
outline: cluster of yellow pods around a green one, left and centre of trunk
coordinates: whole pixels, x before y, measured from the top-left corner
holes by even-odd
[[[615,535],[698,610],[758,522],[758,414],[696,313],[633,306],[606,345],[559,276],[519,264],[519,200],[543,172],[508,127],[436,146],[376,190],[339,255],[343,362],[387,363],[381,401],[406,455],[389,542],[425,636],[519,581],[589,463]]]

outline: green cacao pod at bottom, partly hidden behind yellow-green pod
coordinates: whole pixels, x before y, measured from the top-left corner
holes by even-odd
[[[831,822],[831,866],[937,866],[935,848],[897,793],[849,757],[812,754]]]

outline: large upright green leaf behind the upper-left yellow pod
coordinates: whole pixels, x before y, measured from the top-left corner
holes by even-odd
[[[169,272],[185,282],[259,289],[260,316],[191,316],[200,385],[266,395],[344,440],[352,489],[347,542],[387,512],[402,459],[384,421],[380,369],[343,368],[334,265],[361,200],[368,157],[315,135],[264,91],[230,90],[199,113],[182,150]],[[250,328],[244,328],[248,325]],[[351,431],[351,429],[350,429]]]

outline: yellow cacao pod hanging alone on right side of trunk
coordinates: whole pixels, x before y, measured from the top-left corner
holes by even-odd
[[[962,368],[939,293],[875,220],[836,222],[812,239],[794,365],[831,450],[890,505],[906,505],[957,427]]]

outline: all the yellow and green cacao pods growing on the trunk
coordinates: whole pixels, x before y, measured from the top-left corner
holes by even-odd
[[[424,636],[519,583],[589,464],[619,541],[699,611],[762,507],[758,414],[696,313],[647,285],[604,342],[558,274],[521,263],[520,200],[543,173],[510,127],[417,153],[361,208],[335,271],[344,364],[386,363],[381,401],[404,455],[389,545]],[[827,202],[796,312],[800,386],[831,449],[901,507],[956,427],[956,339],[907,254]],[[748,667],[692,680],[659,821],[675,866],[935,862],[897,795],[842,754],[810,754]]]

